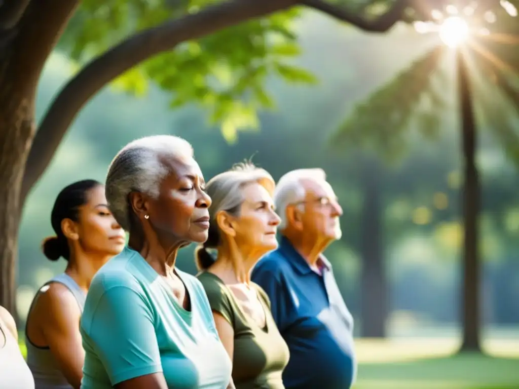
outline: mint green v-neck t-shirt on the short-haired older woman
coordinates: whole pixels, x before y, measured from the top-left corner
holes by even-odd
[[[162,372],[169,388],[224,389],[231,362],[218,338],[209,301],[192,275],[176,270],[191,311],[167,282],[130,248],[112,258],[90,285],[80,332],[85,349],[82,389]]]

